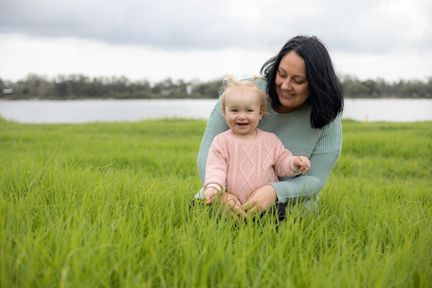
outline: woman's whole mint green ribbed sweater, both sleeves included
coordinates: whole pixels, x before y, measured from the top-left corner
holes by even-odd
[[[252,80],[253,78],[247,79]],[[263,91],[267,91],[267,82],[264,79],[259,79],[256,84]],[[269,104],[267,112],[268,115],[263,116],[258,128],[276,134],[293,155],[306,156],[311,161],[307,175],[279,178],[280,182],[271,183],[275,187],[278,201],[289,204],[302,199],[305,206],[316,206],[318,193],[327,181],[342,148],[342,126],[339,117],[322,129],[313,129],[310,125],[309,104],[289,114],[278,114]],[[201,183],[205,180],[205,164],[211,142],[216,135],[228,129],[222,104],[218,101],[210,113],[199,148],[197,164]]]

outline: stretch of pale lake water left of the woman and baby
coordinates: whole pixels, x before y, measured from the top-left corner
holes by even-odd
[[[0,115],[21,123],[86,123],[159,118],[206,119],[217,100],[0,101]]]

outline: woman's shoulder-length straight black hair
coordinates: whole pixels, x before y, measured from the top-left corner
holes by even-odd
[[[267,60],[260,73],[267,80],[267,93],[270,95],[272,107],[278,110],[282,105],[276,94],[276,75],[282,58],[295,51],[305,61],[306,77],[309,83],[312,107],[311,126],[323,128],[343,111],[342,86],[333,69],[327,49],[315,36],[296,36],[282,47],[275,57]]]

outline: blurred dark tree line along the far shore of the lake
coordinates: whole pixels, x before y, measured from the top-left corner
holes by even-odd
[[[383,79],[360,81],[356,77],[340,78],[346,98],[432,98],[432,77],[426,81]],[[17,82],[0,79],[0,97],[7,99],[180,99],[218,98],[222,78],[210,82],[171,78],[150,83],[129,81],[126,77],[59,75],[52,80],[30,74]]]

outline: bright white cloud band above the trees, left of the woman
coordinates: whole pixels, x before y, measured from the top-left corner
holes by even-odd
[[[167,77],[210,81],[227,74],[258,74],[266,53],[225,49],[170,52],[138,46],[113,46],[77,39],[29,39],[0,36],[0,78],[17,81],[29,73],[54,78],[60,74],[89,77],[125,76],[155,82]]]

